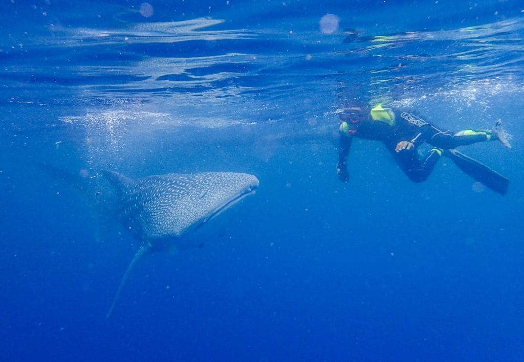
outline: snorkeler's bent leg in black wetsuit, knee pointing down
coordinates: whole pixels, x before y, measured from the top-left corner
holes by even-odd
[[[424,182],[435,168],[436,162],[442,155],[442,150],[439,148],[431,149],[424,160],[419,159],[419,154],[415,148],[402,150],[400,152],[393,150],[391,151],[391,155],[402,172],[404,172],[411,181]]]

